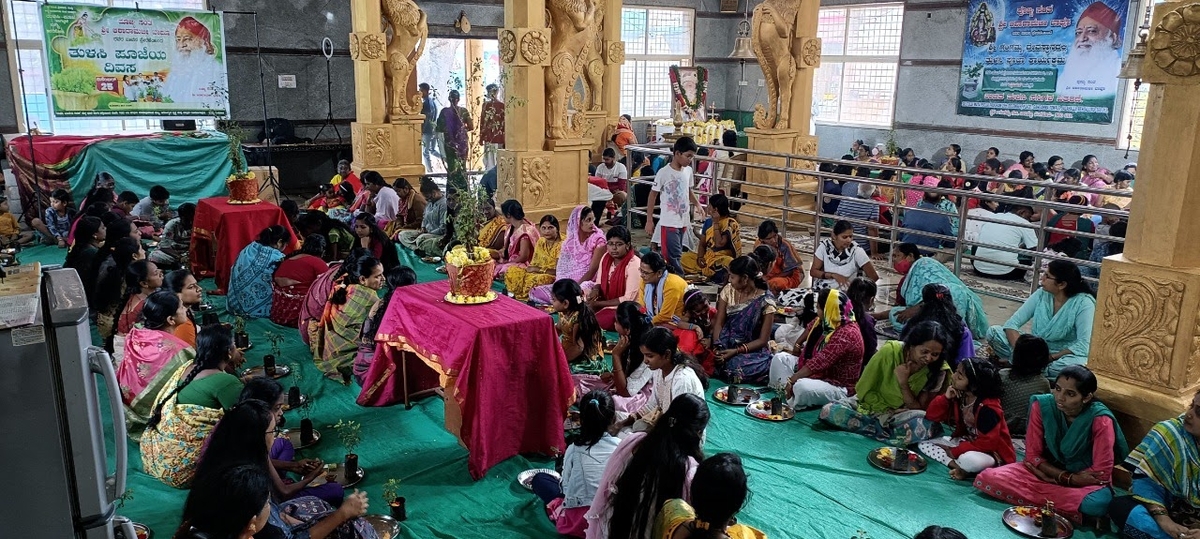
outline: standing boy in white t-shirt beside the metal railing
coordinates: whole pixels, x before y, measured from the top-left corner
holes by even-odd
[[[646,203],[646,234],[650,242],[659,244],[662,257],[671,271],[683,275],[679,257],[683,256],[683,236],[691,226],[691,160],[696,156],[696,142],[691,137],[679,137],[671,146],[671,162],[654,175],[654,185]],[[662,196],[659,223],[661,232],[654,238],[654,206]]]

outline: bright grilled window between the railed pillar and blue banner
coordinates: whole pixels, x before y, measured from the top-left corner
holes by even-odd
[[[901,4],[821,8],[817,122],[892,125],[902,24]]]

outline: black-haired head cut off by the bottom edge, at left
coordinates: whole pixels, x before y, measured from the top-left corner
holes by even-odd
[[[253,537],[270,517],[271,485],[254,465],[230,465],[196,481],[174,539]]]

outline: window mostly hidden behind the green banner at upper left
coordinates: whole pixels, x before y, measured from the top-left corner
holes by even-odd
[[[72,0],[72,4],[109,7],[143,7],[150,10],[206,10],[205,0]],[[2,2],[8,36],[16,44],[20,82],[13,88],[17,96],[17,122],[22,131],[36,127],[56,134],[115,134],[160,131],[160,120],[145,119],[82,119],[55,120],[50,116],[50,97],[46,85],[46,50],[42,34],[41,6],[34,1]],[[17,82],[14,80],[14,84]],[[29,118],[26,126],[25,116]],[[212,119],[197,121],[199,128],[214,128]]]

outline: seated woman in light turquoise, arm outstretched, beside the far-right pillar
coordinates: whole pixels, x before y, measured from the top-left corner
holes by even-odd
[[[1051,260],[1042,274],[1042,287],[1033,291],[1003,327],[988,329],[988,345],[1002,363],[1010,361],[1021,328],[1032,321],[1030,335],[1044,339],[1050,346],[1052,363],[1046,367],[1046,378],[1054,379],[1068,365],[1087,364],[1094,315],[1096,298],[1079,266],[1066,259]]]

